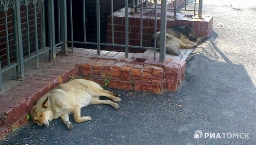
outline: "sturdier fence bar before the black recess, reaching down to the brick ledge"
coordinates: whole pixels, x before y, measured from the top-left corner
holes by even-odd
[[[96,0],[96,19],[97,19],[97,54],[100,55],[100,15],[99,15],[99,0]]]

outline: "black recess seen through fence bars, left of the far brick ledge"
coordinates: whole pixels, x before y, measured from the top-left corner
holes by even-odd
[[[113,0],[113,12],[122,9],[125,6],[124,0]],[[107,17],[111,14],[111,1],[100,0],[100,29],[101,42],[106,43],[106,27]],[[69,3],[67,3],[69,6]],[[83,8],[81,0],[73,0],[73,33],[75,41],[84,41],[83,34]],[[69,10],[68,10],[69,11]],[[96,0],[85,0],[85,14],[86,14],[86,41],[97,42],[97,21],[96,21]],[[69,16],[68,16],[69,17]],[[68,24],[69,24],[69,18]],[[69,26],[70,27],[70,26]],[[68,27],[68,29],[69,29]],[[76,47],[96,48],[95,45],[75,44]],[[104,46],[102,46],[104,49]]]

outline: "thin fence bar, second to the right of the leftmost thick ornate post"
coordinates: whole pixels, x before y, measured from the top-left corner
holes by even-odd
[[[36,67],[39,68],[39,55],[38,55],[38,27],[37,27],[37,12],[36,4],[37,0],[33,0],[34,4],[34,25],[35,25],[35,54],[36,56]]]

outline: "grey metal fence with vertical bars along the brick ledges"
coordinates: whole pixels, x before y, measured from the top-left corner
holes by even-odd
[[[142,48],[142,49],[154,49],[160,50],[160,61],[165,60],[165,43],[166,43],[166,13],[167,13],[167,2],[168,0],[161,0],[161,26],[160,26],[160,31],[161,31],[161,36],[160,36],[160,48],[157,48],[156,45],[153,47],[146,47],[142,46],[142,40],[143,40],[143,29],[142,29],[142,11],[143,9],[150,9],[147,6],[143,6],[143,4],[140,5],[140,3],[143,3],[144,1],[148,0],[130,0],[131,3],[131,9],[134,8],[134,5],[136,5],[137,11],[141,11],[141,29],[140,29],[140,40],[141,44],[140,46],[132,46],[129,45],[128,40],[129,40],[129,22],[128,22],[128,15],[131,12],[130,9],[128,8],[129,6],[129,0],[124,0],[123,2],[125,3],[125,44],[115,44],[113,40],[113,33],[114,33],[114,28],[113,28],[113,0],[111,1],[111,32],[112,32],[112,42],[111,44],[107,43],[101,43],[100,40],[100,35],[101,35],[101,28],[100,28],[100,5],[99,5],[99,0],[96,0],[96,21],[97,21],[97,41],[96,42],[87,42],[86,41],[86,30],[90,29],[86,27],[86,15],[85,15],[85,0],[81,0],[83,4],[83,9],[81,9],[83,13],[83,35],[84,35],[84,41],[74,41],[73,39],[73,6],[72,3],[74,0],[57,0],[57,10],[54,10],[54,1],[55,0],[0,0],[0,11],[4,13],[4,23],[0,23],[0,25],[5,26],[5,36],[1,40],[5,40],[5,42],[0,42],[0,44],[5,44],[6,49],[3,51],[3,53],[0,55],[0,62],[3,64],[3,58],[7,61],[4,66],[1,66],[0,63],[0,89],[2,87],[2,73],[6,72],[7,70],[10,70],[13,67],[16,67],[16,74],[17,74],[17,79],[22,80],[25,76],[24,74],[24,62],[29,61],[33,58],[36,59],[36,64],[37,67],[39,67],[39,56],[44,53],[49,51],[49,60],[54,60],[56,57],[56,50],[55,48],[57,46],[61,46],[61,52],[66,53],[67,52],[67,46],[70,45],[72,52],[73,52],[73,46],[74,44],[92,44],[95,45],[97,48],[97,54],[100,55],[101,52],[101,46],[119,46],[119,47],[125,47],[125,57],[128,57],[128,48]],[[159,0],[158,0],[159,1]],[[185,0],[186,1],[186,0]],[[174,9],[174,14],[176,15],[177,10],[186,10],[186,11],[191,11],[186,9],[177,9],[176,7],[176,0],[175,2],[175,9]],[[201,16],[201,6],[202,6],[202,0],[199,0],[199,10],[194,9],[193,11],[196,12],[198,11],[199,16]],[[69,7],[67,7],[67,3],[69,4]],[[47,7],[45,6],[47,4]],[[25,14],[22,14],[20,11],[20,7],[25,6]],[[30,7],[32,6],[32,7]],[[154,7],[155,12],[156,10],[159,9],[157,8],[157,5]],[[33,14],[30,14],[30,11],[33,11]],[[11,12],[11,16],[8,16],[8,12]],[[55,12],[57,11],[57,18],[55,15]],[[67,17],[67,11],[70,13],[70,17]],[[21,19],[21,14],[23,17],[25,17],[25,22],[22,22],[23,19]],[[195,13],[194,13],[195,14]],[[40,18],[38,18],[38,15]],[[31,17],[33,16],[33,18]],[[9,17],[12,19],[12,28],[9,28]],[[31,20],[32,25],[31,25]],[[40,26],[38,27],[38,19],[40,22]],[[68,40],[67,37],[67,20],[70,20],[70,40]],[[57,21],[57,32],[58,34],[55,34],[55,21]],[[21,26],[25,24],[26,28],[22,29]],[[155,32],[157,32],[157,14],[155,14]],[[30,31],[31,27],[33,27],[34,31]],[[10,29],[13,30],[13,33],[9,33]],[[25,31],[24,31],[25,30]],[[31,43],[31,32],[33,32],[34,43]],[[48,34],[48,35],[46,35]],[[10,40],[11,38],[10,35],[14,36],[14,50],[15,52],[15,60],[11,61],[10,58]],[[39,36],[38,36],[39,35]],[[26,37],[25,37],[26,36]],[[26,41],[26,43],[24,43]],[[156,41],[156,40],[155,40]],[[40,42],[40,44],[38,44]],[[26,45],[25,45],[26,44]],[[156,43],[155,43],[156,44]],[[0,48],[1,49],[1,48]],[[26,54],[23,53],[24,50],[27,50]],[[156,55],[156,54],[155,54]],[[155,56],[154,55],[154,56]],[[4,56],[4,57],[3,57]]]

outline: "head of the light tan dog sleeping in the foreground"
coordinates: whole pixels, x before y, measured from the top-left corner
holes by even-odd
[[[36,104],[30,112],[33,122],[45,128],[49,126],[49,121],[52,121],[52,111],[49,109],[48,97],[42,104]]]

